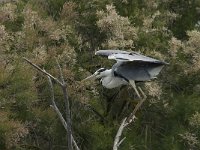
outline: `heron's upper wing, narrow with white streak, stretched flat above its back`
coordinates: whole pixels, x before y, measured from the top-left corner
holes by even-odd
[[[116,61],[143,61],[143,62],[153,62],[153,63],[163,63],[167,64],[163,61],[147,57],[144,55],[141,55],[137,52],[127,52],[127,51],[121,51],[121,50],[99,50],[95,53],[96,55],[104,55],[108,56],[108,59],[114,59]]]

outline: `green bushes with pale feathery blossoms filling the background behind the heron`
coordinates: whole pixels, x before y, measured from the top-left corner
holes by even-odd
[[[137,51],[169,62],[120,150],[200,149],[200,0],[16,0],[0,4],[0,149],[64,150],[66,132],[49,107],[47,79],[27,57],[68,83],[72,128],[82,150],[112,149],[133,90],[80,81],[113,62],[98,49]],[[54,83],[55,84],[55,83]],[[64,113],[62,92],[56,103]]]

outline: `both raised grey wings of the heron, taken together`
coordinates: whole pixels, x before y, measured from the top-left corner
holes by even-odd
[[[115,75],[127,80],[146,81],[155,78],[166,62],[121,50],[99,50],[96,55],[108,56],[117,61],[112,69]]]

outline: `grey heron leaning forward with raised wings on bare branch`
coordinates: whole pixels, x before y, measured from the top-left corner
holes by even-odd
[[[135,82],[156,78],[163,66],[168,64],[137,52],[121,50],[99,50],[95,55],[107,56],[108,59],[114,59],[117,62],[111,69],[100,68],[83,81],[101,79],[101,84],[108,89],[131,84],[139,98],[140,94]]]

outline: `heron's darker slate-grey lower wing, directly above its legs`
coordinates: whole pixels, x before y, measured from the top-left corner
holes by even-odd
[[[128,61],[116,63],[113,69],[115,75],[124,77],[126,80],[148,81],[156,78],[163,66],[162,63]]]

